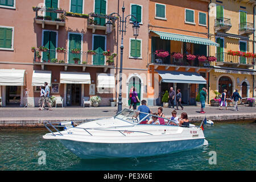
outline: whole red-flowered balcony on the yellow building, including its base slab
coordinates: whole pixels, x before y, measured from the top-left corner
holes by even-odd
[[[230,55],[227,52],[216,53],[217,66],[228,66],[228,67],[239,67],[243,66],[246,68],[253,68],[254,65],[254,58],[253,57],[243,57],[243,56],[236,56]]]

